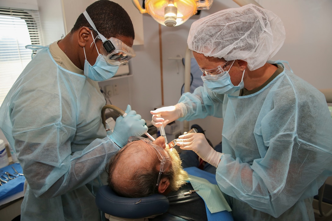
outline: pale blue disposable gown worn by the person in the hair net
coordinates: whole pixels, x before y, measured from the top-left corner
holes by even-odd
[[[203,86],[179,100],[187,108],[179,120],[223,117],[216,180],[234,220],[314,220],[313,196],[332,175],[325,97],[279,65],[284,71],[254,94],[218,95]]]

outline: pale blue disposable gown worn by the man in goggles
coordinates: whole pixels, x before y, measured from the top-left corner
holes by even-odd
[[[22,220],[100,220],[88,183],[98,186],[119,150],[106,137],[104,105],[98,83],[57,65],[48,47],[18,77],[1,105],[0,128],[28,182]]]

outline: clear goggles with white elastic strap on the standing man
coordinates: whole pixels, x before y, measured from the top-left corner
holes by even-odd
[[[134,49],[126,45],[122,40],[115,37],[106,39],[106,37],[100,34],[86,11],[83,12],[83,15],[92,26],[92,28],[89,29],[94,30],[98,34],[96,38],[99,38],[103,41],[103,45],[101,46],[100,51],[106,62],[113,65],[121,65],[128,62],[130,58],[136,56]]]

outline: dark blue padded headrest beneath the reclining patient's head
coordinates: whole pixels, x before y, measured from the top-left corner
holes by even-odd
[[[166,196],[153,194],[140,198],[127,198],[116,194],[108,185],[100,187],[96,195],[97,207],[112,216],[140,219],[165,213],[169,207]]]

